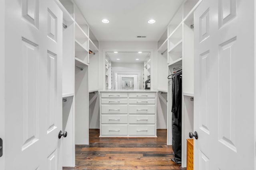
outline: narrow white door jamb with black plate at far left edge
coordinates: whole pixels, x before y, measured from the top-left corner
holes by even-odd
[[[0,1],[0,144],[1,142],[4,143],[5,145],[5,137],[4,137],[4,82],[5,82],[5,76],[4,76],[4,68],[5,68],[5,63],[4,63],[4,0]],[[2,141],[1,141],[2,139]],[[0,145],[0,169],[4,170],[4,156],[5,149],[1,148],[2,146]]]

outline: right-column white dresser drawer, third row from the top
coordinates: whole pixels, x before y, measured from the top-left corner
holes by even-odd
[[[155,113],[155,105],[129,105],[129,113],[135,114],[154,114]]]

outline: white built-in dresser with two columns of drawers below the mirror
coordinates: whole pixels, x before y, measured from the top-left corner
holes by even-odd
[[[100,91],[100,137],[156,137],[156,92]]]

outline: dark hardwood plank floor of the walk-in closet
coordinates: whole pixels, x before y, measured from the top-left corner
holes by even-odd
[[[158,129],[157,138],[100,138],[99,134],[99,129],[90,129],[90,145],[76,145],[76,166],[63,170],[186,170],[171,160],[166,129]]]

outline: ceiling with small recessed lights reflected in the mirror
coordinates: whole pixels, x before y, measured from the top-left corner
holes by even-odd
[[[106,52],[106,54],[111,60],[111,63],[143,63],[146,57],[149,55],[149,53],[150,52]]]

